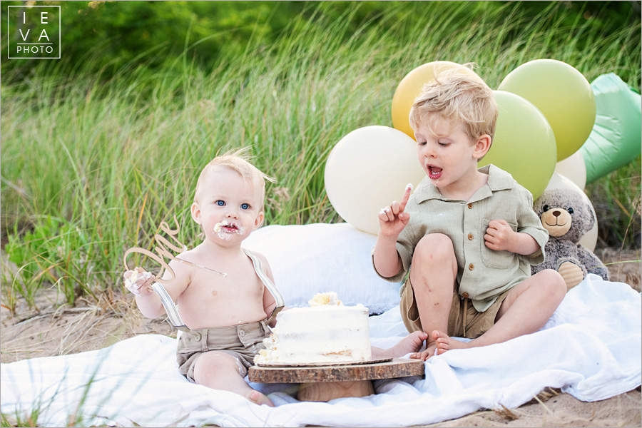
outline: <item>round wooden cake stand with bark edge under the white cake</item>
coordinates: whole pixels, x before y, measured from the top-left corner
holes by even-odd
[[[316,367],[253,365],[248,370],[250,382],[300,383],[297,399],[310,402],[327,402],[341,397],[365,397],[374,394],[372,379],[392,379],[423,374],[422,360],[404,358],[360,365]]]

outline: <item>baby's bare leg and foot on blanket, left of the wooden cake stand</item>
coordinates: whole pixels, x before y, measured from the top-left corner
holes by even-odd
[[[243,395],[256,404],[274,407],[274,403],[265,394],[250,388],[248,382],[241,377],[235,358],[226,352],[210,351],[198,357],[194,366],[194,380],[212,389]]]

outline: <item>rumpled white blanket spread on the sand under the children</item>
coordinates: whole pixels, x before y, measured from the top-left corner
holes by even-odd
[[[253,384],[275,408],[190,384],[176,371],[175,340],[141,335],[103,350],[1,365],[1,411],[35,409],[39,425],[54,427],[395,427],[518,407],[545,387],[594,401],[641,384],[641,321],[640,293],[589,275],[533,335],[446,352],[425,363],[424,379],[378,380],[370,397],[298,402],[292,385]],[[396,343],[405,335],[398,308],[371,317],[371,330],[373,345]]]

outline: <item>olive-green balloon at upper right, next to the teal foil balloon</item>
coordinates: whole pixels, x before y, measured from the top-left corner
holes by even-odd
[[[582,73],[554,59],[536,59],[511,71],[500,91],[531,101],[551,124],[562,161],[584,144],[595,124],[595,96]]]

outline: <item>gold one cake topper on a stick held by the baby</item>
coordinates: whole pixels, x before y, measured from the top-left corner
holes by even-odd
[[[213,269],[210,269],[209,267],[198,265],[197,263],[188,262],[187,260],[183,260],[175,257],[175,255],[173,255],[173,253],[171,253],[170,250],[173,250],[176,253],[181,254],[187,250],[187,245],[181,243],[180,240],[176,238],[176,235],[178,235],[178,232],[180,230],[180,226],[178,225],[178,220],[176,219],[176,216],[174,216],[174,223],[176,225],[176,228],[173,230],[170,229],[169,224],[166,221],[161,221],[160,228],[164,233],[169,235],[170,238],[175,240],[176,244],[178,245],[174,245],[173,243],[170,243],[170,241],[167,238],[165,238],[163,235],[156,233],[154,235],[154,240],[156,241],[156,244],[158,244],[158,246],[154,248],[154,251],[156,251],[156,253],[152,253],[150,250],[146,250],[145,248],[141,248],[141,247],[129,248],[128,250],[126,250],[125,254],[123,255],[123,265],[125,265],[125,270],[131,270],[131,268],[128,267],[127,265],[127,256],[130,255],[131,253],[139,253],[139,254],[148,256],[148,258],[151,258],[151,260],[154,260],[156,263],[161,265],[161,272],[158,272],[158,274],[154,276],[154,280],[157,282],[161,282],[162,284],[167,284],[168,282],[172,282],[176,277],[173,269],[170,267],[170,265],[168,265],[165,262],[165,258],[168,258],[170,260],[176,260],[177,262],[183,263],[185,265],[190,265],[192,267],[197,267],[198,269],[207,270],[208,272],[215,273],[216,275],[219,275],[222,277],[228,276],[227,273],[218,272],[218,270],[213,270]],[[168,248],[170,250],[168,250]],[[170,274],[169,279],[162,278],[163,273],[165,271],[169,272]]]

